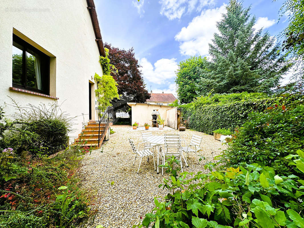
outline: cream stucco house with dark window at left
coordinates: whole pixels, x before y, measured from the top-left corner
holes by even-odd
[[[1,6],[0,105],[7,96],[22,105],[58,101],[77,116],[70,139],[77,138],[82,113],[85,122],[98,120],[94,74],[102,75],[105,49],[93,0],[2,0]]]

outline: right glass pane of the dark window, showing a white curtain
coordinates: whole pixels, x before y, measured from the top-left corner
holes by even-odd
[[[40,56],[29,49],[26,51],[26,86],[42,89]]]

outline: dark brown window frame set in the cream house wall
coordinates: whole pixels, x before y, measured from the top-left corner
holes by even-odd
[[[50,57],[44,54],[42,51],[33,47],[26,41],[22,40],[19,36],[13,34],[13,41],[18,43],[23,47],[22,50],[22,75],[21,81],[23,85],[19,85],[12,82],[12,86],[15,88],[25,89],[33,92],[39,92],[45,95],[50,95]],[[42,80],[42,90],[29,87],[26,85],[27,76],[26,76],[26,52],[27,50],[32,50],[40,55],[41,57],[41,80]]]

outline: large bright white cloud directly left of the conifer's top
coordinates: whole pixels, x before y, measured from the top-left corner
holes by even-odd
[[[183,55],[207,55],[213,34],[218,33],[216,22],[226,13],[226,4],[219,8],[203,10],[200,16],[192,19],[187,27],[176,34],[175,40],[180,42]]]

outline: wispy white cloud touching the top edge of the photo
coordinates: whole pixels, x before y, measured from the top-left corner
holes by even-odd
[[[184,13],[190,13],[195,8],[200,12],[204,6],[214,5],[214,2],[215,0],[160,0],[160,13],[169,20],[180,19]]]

